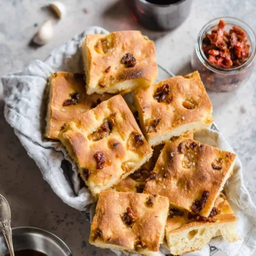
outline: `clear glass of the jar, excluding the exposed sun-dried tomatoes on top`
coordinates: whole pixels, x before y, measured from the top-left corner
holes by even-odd
[[[229,31],[233,26],[242,28],[246,32],[246,44],[250,45],[249,57],[241,66],[234,68],[221,68],[213,65],[202,50],[204,36],[216,29],[219,20],[226,23],[225,29]],[[200,72],[201,79],[206,88],[216,92],[232,92],[241,84],[248,81],[253,71],[253,60],[255,57],[255,35],[252,29],[242,20],[232,17],[220,17],[211,20],[201,29],[196,40],[191,65],[194,70]]]

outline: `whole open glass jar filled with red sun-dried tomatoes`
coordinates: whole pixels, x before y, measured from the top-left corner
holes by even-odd
[[[191,60],[206,88],[231,92],[253,71],[255,35],[242,20],[220,17],[201,29]]]

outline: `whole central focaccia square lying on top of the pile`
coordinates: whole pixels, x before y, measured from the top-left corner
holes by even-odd
[[[93,195],[135,172],[152,156],[152,148],[121,95],[69,122],[59,139]]]

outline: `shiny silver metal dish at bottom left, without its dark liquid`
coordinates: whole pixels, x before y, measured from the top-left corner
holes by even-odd
[[[15,252],[19,250],[35,250],[47,256],[74,256],[67,244],[59,237],[40,228],[12,228],[12,239]],[[8,253],[4,236],[0,234],[0,256]]]

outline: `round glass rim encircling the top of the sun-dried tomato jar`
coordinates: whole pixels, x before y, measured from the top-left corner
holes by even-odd
[[[250,44],[251,44],[250,47],[252,49],[250,57],[239,67],[235,67],[235,68],[216,67],[206,58],[206,56],[202,50],[202,40],[205,36],[205,33],[207,31],[209,31],[209,29],[213,28],[214,26],[217,26],[219,20],[224,20],[228,24],[233,24],[234,26],[241,27],[246,32],[246,35],[250,38]],[[255,41],[256,41],[255,34],[253,33],[252,28],[250,28],[250,26],[248,24],[243,22],[243,20],[240,20],[240,19],[237,19],[234,17],[228,17],[228,16],[218,17],[218,18],[212,19],[209,22],[207,22],[207,24],[205,24],[203,26],[203,28],[200,30],[200,32],[198,33],[197,40],[196,40],[196,53],[198,55],[199,60],[202,62],[202,64],[205,65],[207,68],[209,68],[212,72],[216,72],[219,74],[227,74],[227,73],[234,74],[234,73],[240,72],[241,70],[248,67],[252,63],[253,59],[255,58],[255,54],[256,54],[256,42]]]

